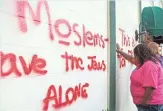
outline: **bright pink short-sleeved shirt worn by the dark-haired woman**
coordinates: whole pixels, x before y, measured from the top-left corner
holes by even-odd
[[[163,104],[163,69],[159,63],[145,62],[132,72],[130,80],[131,95],[135,104],[140,104],[145,92],[144,87],[155,88],[149,104]]]

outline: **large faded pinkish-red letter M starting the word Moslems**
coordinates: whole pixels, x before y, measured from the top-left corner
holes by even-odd
[[[48,6],[48,3],[46,1],[38,2],[36,14],[32,10],[32,7],[29,5],[28,1],[25,1],[25,0],[17,1],[17,11],[16,12],[17,12],[18,19],[19,19],[18,21],[19,21],[20,30],[22,32],[28,31],[28,27],[27,27],[27,23],[26,23],[26,17],[25,17],[26,7],[28,7],[28,9],[30,10],[34,23],[36,25],[40,24],[40,22],[41,22],[41,20],[40,20],[40,18],[41,18],[40,9],[41,9],[42,5],[45,6],[45,9],[47,11],[48,24],[49,24],[48,25],[49,37],[51,40],[53,40],[54,35],[52,33],[51,17],[50,17],[50,12],[49,12],[49,6]]]

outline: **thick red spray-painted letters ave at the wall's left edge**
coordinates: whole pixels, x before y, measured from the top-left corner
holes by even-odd
[[[21,77],[22,73],[25,73],[25,75],[29,75],[30,73],[32,73],[32,71],[41,75],[45,75],[47,73],[47,70],[44,69],[46,66],[46,61],[42,58],[38,58],[37,55],[33,55],[31,63],[29,65],[22,56],[18,57],[23,69],[23,72],[21,72],[20,68],[17,67],[18,60],[15,54],[13,53],[4,54],[3,52],[0,52],[0,54],[1,54],[0,62],[1,77],[9,76],[12,73],[14,73],[18,77]],[[8,68],[7,71],[4,71],[3,68],[5,63],[10,64],[7,67]]]

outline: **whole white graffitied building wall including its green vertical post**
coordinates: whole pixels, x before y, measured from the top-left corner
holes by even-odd
[[[115,45],[133,55],[145,39],[142,12],[155,6],[163,8],[159,0],[0,0],[0,111],[137,111],[134,66]]]

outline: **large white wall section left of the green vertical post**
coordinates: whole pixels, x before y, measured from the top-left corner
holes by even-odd
[[[32,21],[32,16],[37,20],[39,17],[36,15],[37,11],[39,14],[39,10],[36,11],[37,0],[29,0],[24,4],[25,7],[27,6],[25,18],[17,16],[17,14],[23,14],[23,3],[25,2],[19,2],[22,7],[17,7],[18,4],[16,3],[18,1],[15,0],[0,1],[1,71],[6,72],[6,74],[1,73],[0,78],[0,111],[42,111],[45,105],[43,100],[46,98],[48,88],[51,85],[56,88],[57,96],[53,94],[55,92],[53,87],[53,90],[50,90],[51,101],[48,108],[45,108],[47,110],[44,111],[101,111],[106,109],[108,71],[105,69],[105,65],[107,67],[108,42],[104,41],[103,43],[103,40],[107,38],[106,1],[45,1],[42,2],[40,10],[40,23]],[[28,6],[29,9],[33,9],[33,15]],[[49,36],[48,9],[51,18],[50,34],[54,35],[54,40]],[[61,21],[58,23],[66,21],[70,25],[70,29],[64,24],[55,25],[59,19]],[[75,23],[79,26],[73,29]],[[83,27],[85,27],[85,31],[90,31],[87,35],[84,34]],[[57,33],[57,30],[61,34]],[[70,33],[68,38],[62,37],[62,34],[68,33]],[[102,40],[101,36],[98,37],[97,41],[91,40],[91,37],[94,38],[94,34],[97,33],[103,36]],[[81,36],[82,45],[76,46],[74,41],[78,42],[79,36]],[[96,46],[86,44],[84,47],[84,37],[87,37],[88,41],[98,44]],[[68,41],[70,45],[60,44],[59,40]],[[72,65],[69,61],[69,70],[66,71],[66,60],[61,57],[65,52],[79,57],[79,64],[81,64],[80,60],[82,59],[84,70],[71,70]],[[39,59],[34,60],[33,58],[32,61],[35,54]],[[100,62],[100,66],[105,70],[88,70],[87,65],[90,64],[90,60],[87,59],[88,56],[96,56],[96,61]],[[24,64],[24,69],[22,64]],[[94,62],[94,68],[97,68],[96,66],[97,64]],[[16,68],[21,74],[16,71]],[[10,72],[8,72],[9,70]],[[41,72],[43,74],[40,74]],[[80,92],[83,93],[71,104],[72,88],[80,83],[83,87]],[[59,86],[62,86],[60,93]],[[65,102],[68,88],[70,104],[62,106],[60,104],[58,105],[59,108],[54,108],[52,105],[55,104],[55,99],[58,102]],[[75,92],[73,96],[75,98]]]

